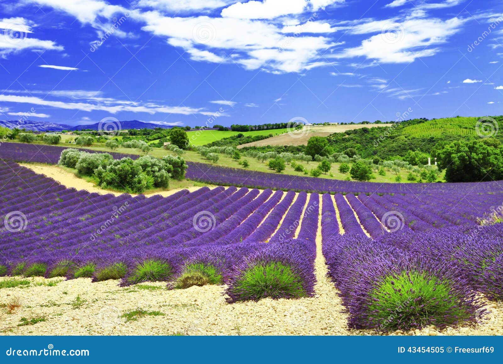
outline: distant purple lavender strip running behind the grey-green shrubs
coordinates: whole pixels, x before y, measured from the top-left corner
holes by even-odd
[[[63,147],[54,145],[3,143],[0,146],[0,158],[16,162],[38,162],[57,164]],[[86,150],[90,153],[96,151]],[[114,158],[137,155],[110,153]],[[451,200],[466,198],[471,200],[480,197],[480,193],[501,193],[502,182],[482,183],[375,183],[340,181],[325,178],[298,176],[292,180],[290,175],[248,171],[203,163],[187,162],[186,177],[195,181],[208,182],[216,185],[233,185],[248,188],[274,188],[281,190],[307,191],[317,193],[405,193],[428,195],[443,198],[444,194],[452,196]],[[450,198],[450,197],[448,197]],[[467,203],[464,203],[467,205]]]

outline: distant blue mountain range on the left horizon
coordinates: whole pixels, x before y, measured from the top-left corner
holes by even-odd
[[[113,125],[115,124],[115,126]],[[103,130],[127,130],[127,129],[153,129],[153,128],[164,128],[169,129],[173,126],[168,125],[157,125],[153,123],[146,123],[138,120],[129,121],[119,121],[120,126],[117,125],[116,121],[107,121],[102,123],[101,128]],[[56,124],[50,121],[33,121],[33,120],[0,120],[0,126],[7,127],[10,129],[26,129],[33,131],[60,131],[60,130],[82,130],[82,129],[92,129],[98,130],[100,128],[100,123],[95,123],[91,125],[65,125]]]

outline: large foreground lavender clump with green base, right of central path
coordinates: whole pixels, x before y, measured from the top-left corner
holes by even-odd
[[[443,328],[483,323],[490,316],[484,297],[503,299],[502,239],[503,224],[407,230],[375,240],[345,234],[326,239],[323,254],[350,327]]]

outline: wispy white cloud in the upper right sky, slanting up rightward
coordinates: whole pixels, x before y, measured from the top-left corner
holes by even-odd
[[[408,63],[419,57],[435,55],[437,46],[460,31],[465,20],[452,18],[370,21],[358,24],[352,34],[378,33],[362,41],[359,47],[345,49],[326,57],[367,57],[384,63]]]

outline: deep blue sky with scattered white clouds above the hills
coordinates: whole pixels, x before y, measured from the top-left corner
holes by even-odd
[[[499,0],[0,2],[0,120],[503,114]]]

